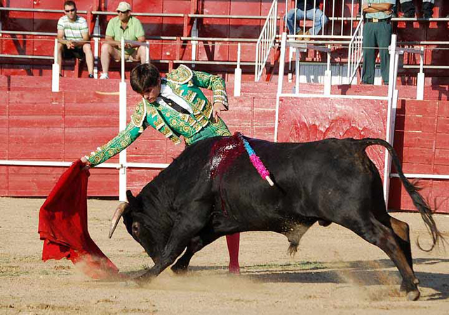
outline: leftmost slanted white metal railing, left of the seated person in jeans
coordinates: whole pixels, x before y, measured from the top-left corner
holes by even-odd
[[[274,0],[272,7],[269,9],[267,20],[265,20],[262,32],[260,32],[259,39],[255,46],[255,76],[254,81],[259,81],[262,76],[265,63],[268,60],[269,53],[274,46],[276,40],[278,16],[278,1]]]

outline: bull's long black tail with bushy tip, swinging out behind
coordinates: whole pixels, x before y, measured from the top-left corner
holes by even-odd
[[[391,160],[393,161],[393,164],[396,167],[396,170],[398,171],[399,178],[401,179],[401,182],[404,185],[404,187],[406,187],[406,190],[410,195],[413,204],[420,212],[422,220],[424,220],[424,224],[426,225],[427,230],[429,231],[429,234],[431,235],[432,238],[432,246],[428,250],[423,249],[419,243],[417,243],[417,246],[424,251],[431,251],[432,249],[434,249],[438,241],[444,240],[443,235],[441,235],[441,232],[439,232],[436,227],[434,217],[432,217],[433,211],[431,210],[429,203],[427,203],[427,201],[425,201],[422,198],[421,194],[418,192],[419,189],[415,185],[413,185],[404,175],[401,167],[401,162],[398,159],[398,155],[396,154],[394,147],[391,147],[391,145],[385,140],[372,139],[372,138],[361,140],[361,144],[363,145],[362,147],[363,149],[366,149],[366,147],[369,147],[370,145],[382,145],[382,147],[385,147],[388,150],[388,152],[391,155]]]

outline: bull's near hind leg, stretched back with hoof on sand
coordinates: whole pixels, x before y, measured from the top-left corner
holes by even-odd
[[[390,259],[396,264],[403,279],[403,290],[407,292],[408,300],[417,300],[420,297],[420,291],[415,283],[415,275],[407,260],[406,254],[398,244],[396,235],[392,229],[389,229],[374,217],[370,217],[366,222],[352,222],[346,225],[356,234],[360,235],[366,241],[382,249]],[[357,227],[357,228],[354,228]]]

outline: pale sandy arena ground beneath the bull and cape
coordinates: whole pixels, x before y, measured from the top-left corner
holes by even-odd
[[[94,281],[68,260],[41,261],[42,203],[0,198],[0,314],[449,314],[449,254],[417,249],[418,235],[429,243],[417,214],[393,214],[410,224],[421,281],[420,300],[408,302],[387,255],[336,224],[312,227],[295,257],[287,255],[284,236],[242,234],[241,276],[227,274],[222,238],[196,254],[187,276],[168,269],[145,288]],[[90,200],[89,231],[121,272],[142,271],[152,260],[123,224],[107,239],[117,204]],[[436,215],[436,222],[448,235],[449,215]]]

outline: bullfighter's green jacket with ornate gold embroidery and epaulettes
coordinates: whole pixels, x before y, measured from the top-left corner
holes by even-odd
[[[166,74],[166,78],[161,81],[162,84],[170,86],[173,93],[185,100],[192,108],[193,113],[182,114],[171,107],[142,99],[135,107],[131,121],[126,128],[114,139],[102,147],[98,147],[97,151],[92,152],[90,156],[86,156],[91,162],[91,166],[97,166],[126,149],[148,126],[152,126],[175,144],[181,143],[181,136],[185,142],[190,144],[193,141],[189,142],[189,139],[194,139],[194,135],[201,133],[201,130],[212,124],[210,118],[213,103],[221,102],[228,108],[225,81],[220,76],[192,71],[189,67],[180,65]],[[213,103],[208,101],[201,88],[213,91]],[[230,135],[227,126],[221,119],[218,123],[214,123],[213,130],[214,135]]]

